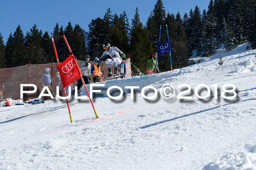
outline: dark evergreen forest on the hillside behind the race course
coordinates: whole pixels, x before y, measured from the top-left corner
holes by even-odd
[[[86,55],[91,59],[100,58],[104,51],[102,44],[108,41],[124,54],[130,54],[131,62],[145,72],[147,59],[158,48],[160,25],[161,43],[167,40],[166,24],[173,69],[188,66],[192,52],[208,57],[221,45],[226,52],[241,43],[248,43],[247,48],[256,48],[256,0],[210,0],[208,9],[202,11],[196,6],[183,16],[179,12],[167,12],[163,1],[157,0],[144,24],[140,21],[138,8],[131,21],[125,11],[118,15],[108,8],[102,18],[91,20],[89,31],[69,22],[65,28],[56,23],[50,33],[42,32],[34,24],[24,34],[18,25],[5,44],[0,32],[0,68],[23,66],[29,62],[56,62],[51,36],[54,37],[59,60],[63,62],[69,55],[63,39],[65,35],[78,60],[84,60]],[[169,54],[159,56],[158,62],[161,72],[170,70]]]

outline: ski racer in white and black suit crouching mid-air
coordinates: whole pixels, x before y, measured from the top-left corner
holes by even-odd
[[[99,62],[102,62],[106,55],[110,55],[111,59],[106,59],[106,65],[108,68],[108,77],[119,75],[119,71],[117,65],[121,64],[121,57],[125,57],[122,51],[120,51],[117,47],[110,47],[109,42],[105,42],[103,44],[103,48],[105,51],[103,52],[101,58],[99,58]],[[114,75],[112,74],[110,64],[114,66]]]

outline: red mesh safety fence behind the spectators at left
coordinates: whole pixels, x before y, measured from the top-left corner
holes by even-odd
[[[128,59],[130,60],[130,59]],[[123,60],[126,64],[126,78],[131,77],[131,63],[128,60]],[[80,66],[83,61],[76,60]],[[94,64],[93,61],[90,61]],[[30,99],[38,98],[39,94],[43,89],[43,84],[41,83],[41,77],[45,74],[45,69],[50,68],[50,77],[52,80],[50,91],[53,96],[56,96],[56,85],[54,86],[53,79],[56,78],[57,63],[48,64],[27,64],[25,66],[12,67],[12,68],[2,68],[0,69],[0,101],[6,98],[12,98],[13,100],[20,99],[20,84],[35,84],[37,86],[37,91],[32,94],[23,94],[23,100],[27,101]],[[108,75],[108,69],[105,62],[100,63],[102,76],[106,77]],[[111,65],[112,72],[114,72],[114,67]],[[116,79],[116,78],[113,78]],[[108,79],[109,80],[109,79]],[[104,81],[101,79],[100,82]],[[71,83],[71,86],[75,87],[77,85],[77,80]],[[61,84],[60,90],[63,89]],[[33,87],[24,87],[23,91],[32,91]]]

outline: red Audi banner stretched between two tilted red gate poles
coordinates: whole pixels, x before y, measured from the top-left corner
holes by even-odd
[[[68,84],[74,82],[80,77],[79,71],[77,68],[78,64],[74,59],[73,55],[69,55],[68,58],[64,60],[59,66],[57,66],[60,71],[60,77],[63,84],[63,87],[68,86]]]

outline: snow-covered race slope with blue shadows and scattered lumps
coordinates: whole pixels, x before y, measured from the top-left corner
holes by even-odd
[[[99,119],[89,99],[74,97],[72,123],[65,100],[0,107],[0,169],[256,169],[256,50],[246,46],[181,69],[103,82],[93,99]],[[175,89],[171,99],[160,94],[166,84]],[[191,86],[184,94],[191,99],[177,99],[187,90],[181,84]],[[199,84],[217,99],[197,98]],[[223,99],[225,84],[236,87],[235,99]],[[110,99],[111,86],[125,95]],[[125,86],[139,86],[133,99]],[[156,98],[142,96],[146,86],[157,89]]]

